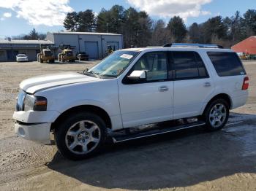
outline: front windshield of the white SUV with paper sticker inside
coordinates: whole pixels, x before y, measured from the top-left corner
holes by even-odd
[[[98,63],[87,74],[98,77],[118,77],[140,52],[119,50]]]

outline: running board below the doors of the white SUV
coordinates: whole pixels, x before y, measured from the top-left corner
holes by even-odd
[[[189,123],[186,125],[178,125],[178,126],[170,127],[170,128],[153,129],[153,130],[148,130],[148,131],[142,132],[142,133],[132,133],[132,134],[128,134],[128,135],[113,136],[112,139],[113,139],[114,143],[120,143],[120,142],[124,142],[124,141],[130,141],[130,140],[145,138],[145,137],[149,137],[149,136],[157,136],[157,135],[161,135],[161,134],[165,134],[165,133],[174,132],[177,130],[183,130],[183,129],[187,129],[187,128],[195,128],[195,127],[202,126],[202,125],[206,125],[206,122],[197,121],[197,122],[192,122],[192,123]]]

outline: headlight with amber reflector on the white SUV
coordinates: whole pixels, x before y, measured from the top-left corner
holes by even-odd
[[[26,95],[24,100],[24,111],[46,111],[47,110],[47,98],[34,95]]]

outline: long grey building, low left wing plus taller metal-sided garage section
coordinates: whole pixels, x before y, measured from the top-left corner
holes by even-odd
[[[48,33],[45,40],[0,39],[0,61],[15,61],[18,54],[26,54],[29,61],[37,61],[40,44],[49,44],[56,58],[63,44],[72,46],[74,54],[86,52],[90,59],[104,58],[109,45],[113,50],[124,48],[121,34],[57,32]]]

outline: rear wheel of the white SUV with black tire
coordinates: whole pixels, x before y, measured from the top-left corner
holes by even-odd
[[[217,106],[218,110],[222,110],[219,115],[218,114],[214,115],[213,113],[215,110],[214,106]],[[224,109],[220,109],[221,108],[220,106],[223,106]],[[222,116],[224,113],[225,113],[225,118]],[[205,125],[206,130],[215,131],[215,130],[220,130],[224,128],[224,126],[227,123],[229,114],[230,114],[229,105],[227,104],[227,101],[225,101],[225,99],[219,98],[214,101],[211,101],[211,103],[208,104],[208,106],[206,106],[205,112],[203,113],[203,116],[202,116],[202,119],[206,122],[206,125]],[[214,120],[215,117],[218,117],[217,120],[219,120],[219,122],[215,123],[216,126],[213,125],[215,121]]]

